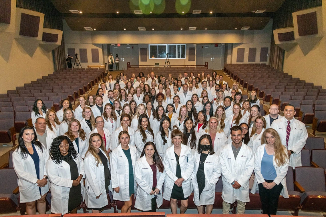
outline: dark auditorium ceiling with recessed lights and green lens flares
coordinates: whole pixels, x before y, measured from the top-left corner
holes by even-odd
[[[51,0],[71,30],[261,30],[285,0]],[[69,10],[82,13],[73,14]],[[257,10],[266,10],[256,13]],[[142,14],[135,14],[141,11]],[[200,11],[193,13],[194,11]],[[255,13],[254,13],[255,11]],[[118,12],[118,13],[117,13]],[[124,30],[126,29],[126,30]]]

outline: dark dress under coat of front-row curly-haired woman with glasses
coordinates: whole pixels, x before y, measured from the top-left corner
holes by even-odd
[[[73,159],[69,159],[68,155],[63,157],[70,166],[70,179],[76,180],[79,176],[78,167]],[[72,211],[82,202],[82,185],[71,186],[69,190],[68,211]]]

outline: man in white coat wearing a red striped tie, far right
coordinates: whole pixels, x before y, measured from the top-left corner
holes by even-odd
[[[303,122],[294,118],[295,108],[287,105],[284,108],[284,117],[273,121],[271,128],[277,131],[282,144],[288,149],[289,166],[301,167],[301,150],[308,138],[307,129]]]

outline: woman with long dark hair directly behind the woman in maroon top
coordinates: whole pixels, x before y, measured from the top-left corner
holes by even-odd
[[[144,145],[147,142],[154,142],[154,133],[146,114],[141,114],[138,119],[138,129],[135,131],[135,146],[138,155],[141,155]]]

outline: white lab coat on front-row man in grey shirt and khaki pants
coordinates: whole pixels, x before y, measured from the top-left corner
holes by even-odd
[[[249,179],[254,171],[254,157],[250,147],[242,142],[242,147],[234,160],[232,142],[222,148],[220,152],[220,164],[222,170],[223,191],[222,198],[227,203],[235,200],[249,202]],[[234,189],[233,181],[237,181],[241,187]]]

